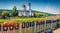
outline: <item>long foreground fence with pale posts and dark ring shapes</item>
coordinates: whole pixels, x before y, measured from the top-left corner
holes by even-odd
[[[42,33],[60,27],[60,20],[47,20],[44,22],[23,22],[16,28],[14,26],[1,26],[0,33]]]

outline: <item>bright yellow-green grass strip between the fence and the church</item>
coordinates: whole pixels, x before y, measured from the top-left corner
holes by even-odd
[[[23,23],[23,22],[36,22],[40,21],[41,19],[43,20],[50,20],[49,17],[44,17],[44,18],[20,18],[20,17],[15,17],[14,18],[18,23]],[[10,20],[8,19],[0,19],[0,24],[4,22],[9,22]]]

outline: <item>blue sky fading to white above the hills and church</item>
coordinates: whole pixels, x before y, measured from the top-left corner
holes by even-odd
[[[60,0],[0,0],[0,9],[12,9],[16,6],[20,10],[22,4],[27,7],[29,2],[32,10],[60,14]]]

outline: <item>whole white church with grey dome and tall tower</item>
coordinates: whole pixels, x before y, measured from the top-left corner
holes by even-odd
[[[23,4],[20,8],[20,11],[18,11],[19,13],[18,16],[27,16],[27,17],[33,16],[30,3],[28,3],[28,10],[26,8],[27,8],[26,5]]]

